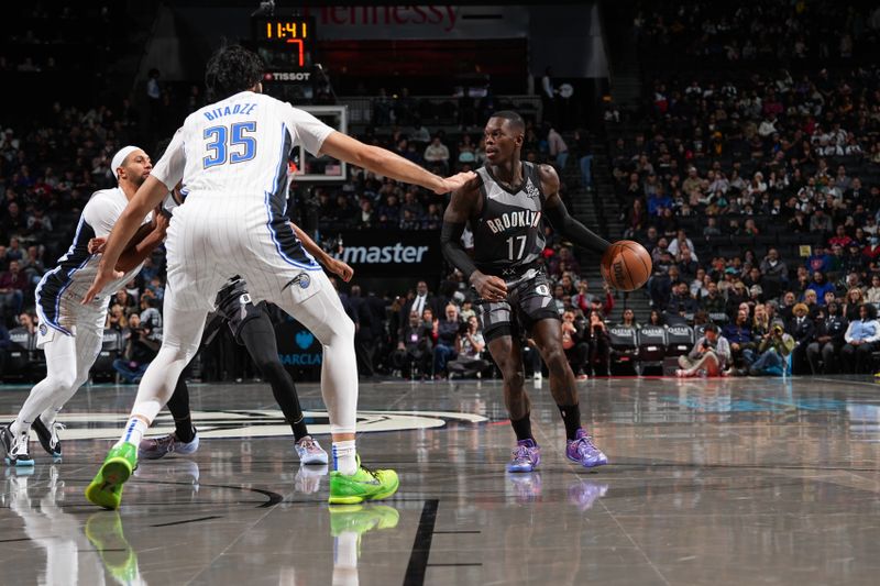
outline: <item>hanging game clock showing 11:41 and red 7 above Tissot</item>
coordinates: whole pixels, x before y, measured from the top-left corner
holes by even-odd
[[[251,16],[251,42],[266,63],[266,93],[290,102],[312,99],[316,38],[311,16]]]

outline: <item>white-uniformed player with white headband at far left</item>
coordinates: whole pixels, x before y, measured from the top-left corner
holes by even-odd
[[[8,427],[0,430],[6,461],[15,466],[33,466],[28,450],[33,427],[43,447],[55,457],[62,455],[55,416],[88,379],[89,369],[103,342],[103,327],[110,296],[141,270],[144,258],[165,239],[168,219],[147,214],[138,219],[141,230],[116,264],[117,277],[105,284],[98,295],[82,302],[98,270],[98,256],[89,252],[94,237],[106,237],[138,188],[153,168],[150,157],[136,146],[120,150],[111,162],[118,186],[91,196],[82,209],[74,243],[46,273],[36,287],[36,312],[40,316],[37,346],[46,353],[46,378],[31,394]]]

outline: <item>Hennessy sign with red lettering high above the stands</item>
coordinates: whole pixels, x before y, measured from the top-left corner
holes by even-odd
[[[304,7],[321,40],[515,38],[528,35],[526,7],[339,5]]]

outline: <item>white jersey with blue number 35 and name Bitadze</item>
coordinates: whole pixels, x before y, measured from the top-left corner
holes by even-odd
[[[287,102],[242,91],[187,117],[152,175],[168,189],[183,179],[187,199],[234,196],[243,209],[264,207],[286,199],[293,146],[317,155],[331,132]]]

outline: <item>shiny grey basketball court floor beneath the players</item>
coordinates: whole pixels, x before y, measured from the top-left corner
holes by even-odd
[[[529,383],[529,388],[535,384]],[[868,380],[596,379],[584,420],[612,464],[564,458],[532,391],[540,472],[504,472],[498,382],[361,388],[359,450],[400,490],[331,510],[267,386],[193,385],[191,457],[141,462],[119,512],[82,496],[134,387],[81,389],[63,462],[3,468],[4,584],[876,584],[880,395]],[[329,447],[316,385],[300,385]],[[4,388],[9,420],[26,388]],[[169,429],[167,414],[152,433]],[[354,567],[356,561],[356,567]]]

